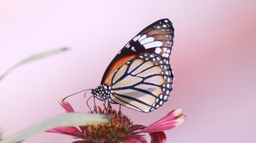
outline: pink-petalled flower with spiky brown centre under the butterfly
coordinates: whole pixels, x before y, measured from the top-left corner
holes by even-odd
[[[65,112],[75,112],[68,102],[60,103]],[[166,135],[164,130],[170,130],[185,121],[182,109],[175,109],[169,112],[160,120],[148,127],[136,125],[130,121],[122,112],[111,109],[111,106],[104,108],[94,107],[92,114],[104,114],[111,117],[108,124],[91,125],[86,127],[59,127],[47,130],[50,133],[61,133],[74,136],[80,140],[73,143],[147,143],[143,137],[149,133],[152,143],[165,143]]]

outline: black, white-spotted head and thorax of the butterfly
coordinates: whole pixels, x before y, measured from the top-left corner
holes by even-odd
[[[107,85],[99,85],[95,89],[92,90],[92,94],[94,97],[103,101],[111,101],[111,87]]]

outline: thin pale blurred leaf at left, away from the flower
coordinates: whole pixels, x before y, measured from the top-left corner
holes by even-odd
[[[9,70],[7,70],[2,76],[0,76],[0,81],[2,79],[4,79],[5,76],[7,76],[8,73],[10,73],[12,70],[16,69],[17,67],[20,67],[23,64],[27,64],[27,63],[32,62],[32,61],[37,61],[37,60],[40,60],[42,58],[47,58],[47,57],[50,57],[51,55],[59,54],[61,52],[66,51],[67,49],[68,48],[59,48],[59,49],[53,49],[53,50],[50,50],[50,51],[47,51],[47,52],[41,52],[41,53],[38,53],[38,54],[35,54],[35,55],[31,55],[28,58],[23,59],[23,61],[20,61],[19,63],[15,64]]]

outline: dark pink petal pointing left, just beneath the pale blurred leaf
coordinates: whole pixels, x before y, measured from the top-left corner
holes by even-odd
[[[58,127],[58,128],[52,129],[52,130],[47,130],[46,132],[61,133],[61,134],[65,134],[65,135],[75,136],[78,138],[81,138],[82,134],[83,134],[76,127]]]

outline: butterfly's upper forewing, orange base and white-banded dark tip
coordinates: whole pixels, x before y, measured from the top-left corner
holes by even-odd
[[[101,84],[111,85],[111,75],[133,58],[143,53],[154,53],[158,55],[166,64],[169,64],[169,55],[172,50],[174,28],[169,19],[160,19],[148,25],[126,43],[123,49],[118,52],[111,63],[108,65],[102,77]],[[170,66],[167,65],[170,69]],[[171,70],[171,69],[170,69]]]

